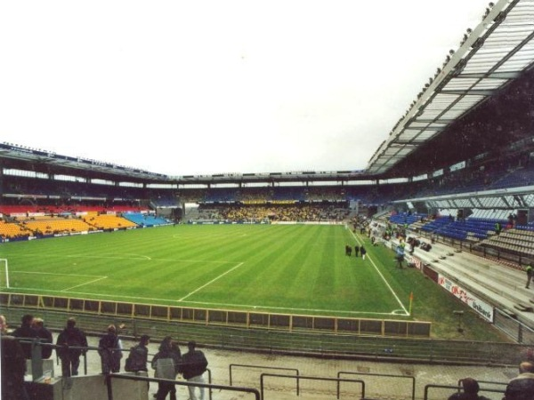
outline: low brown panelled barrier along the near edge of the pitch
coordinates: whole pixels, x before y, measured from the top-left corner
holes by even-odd
[[[268,312],[185,308],[111,300],[90,300],[24,293],[0,293],[0,306],[38,308],[98,316],[269,329],[286,332],[378,335],[429,338],[432,323],[340,316],[303,316]]]

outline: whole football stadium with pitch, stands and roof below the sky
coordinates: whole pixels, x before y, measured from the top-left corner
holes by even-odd
[[[458,34],[361,170],[0,143],[2,398],[534,398],[534,1]]]

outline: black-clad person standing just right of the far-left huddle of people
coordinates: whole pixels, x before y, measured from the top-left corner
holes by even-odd
[[[76,327],[76,319],[70,317],[67,327],[58,335],[56,353],[61,359],[61,374],[64,377],[77,376],[80,356],[85,354],[87,339],[85,333]]]

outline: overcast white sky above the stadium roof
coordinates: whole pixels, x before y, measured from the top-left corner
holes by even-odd
[[[364,169],[488,3],[4,1],[0,141],[169,175]]]

